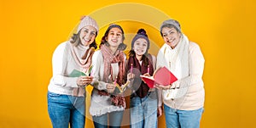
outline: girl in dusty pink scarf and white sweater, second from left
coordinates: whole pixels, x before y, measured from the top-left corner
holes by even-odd
[[[102,37],[100,50],[93,55],[90,114],[96,128],[120,127],[125,109],[125,97],[114,95],[116,84],[124,84],[124,31],[119,25],[110,25]]]

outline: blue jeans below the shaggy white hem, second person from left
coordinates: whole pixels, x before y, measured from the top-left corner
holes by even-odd
[[[119,128],[123,120],[124,111],[115,111],[101,116],[92,116],[93,124],[95,128]]]

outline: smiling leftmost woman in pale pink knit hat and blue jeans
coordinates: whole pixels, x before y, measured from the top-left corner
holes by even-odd
[[[84,128],[84,86],[90,84],[92,77],[73,75],[73,71],[85,73],[89,69],[98,31],[96,21],[85,16],[72,39],[55,49],[48,86],[48,112],[54,128]]]

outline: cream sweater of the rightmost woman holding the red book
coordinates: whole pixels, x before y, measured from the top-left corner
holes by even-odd
[[[166,66],[164,57],[164,48],[160,48],[157,56],[156,67]],[[189,75],[174,82],[173,86],[180,88],[188,87],[187,92],[183,97],[175,98],[174,100],[165,100],[164,103],[172,109],[195,110],[201,109],[204,106],[205,90],[202,81],[205,59],[201,53],[200,47],[195,42],[189,42]],[[172,70],[171,70],[172,71]]]

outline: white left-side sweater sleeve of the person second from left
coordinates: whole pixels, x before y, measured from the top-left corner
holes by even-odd
[[[92,65],[93,65],[93,81],[91,83],[92,86],[94,86],[98,90],[107,90],[107,84],[106,82],[102,81],[101,75],[103,75],[103,70],[102,67],[104,67],[103,62],[103,56],[102,52],[96,51],[93,56],[92,56]]]

